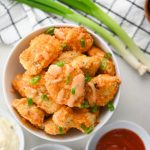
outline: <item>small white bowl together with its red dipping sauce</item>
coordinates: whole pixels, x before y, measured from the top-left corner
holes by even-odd
[[[96,132],[86,150],[150,150],[150,136],[135,123],[117,121]]]

